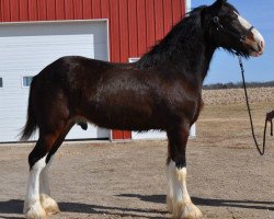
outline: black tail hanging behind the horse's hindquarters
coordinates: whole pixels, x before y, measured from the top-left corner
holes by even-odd
[[[30,89],[30,95],[28,95],[28,106],[27,106],[27,118],[25,126],[23,127],[23,130],[21,132],[21,140],[27,140],[33,132],[35,131],[37,127],[37,123],[34,116],[34,111],[33,111],[33,87],[34,87],[34,78],[31,83],[31,89]]]

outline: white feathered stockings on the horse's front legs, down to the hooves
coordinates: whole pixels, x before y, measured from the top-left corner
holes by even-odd
[[[168,175],[168,209],[176,219],[202,218],[201,210],[192,204],[186,188],[186,168],[178,169],[171,161],[167,168]]]

